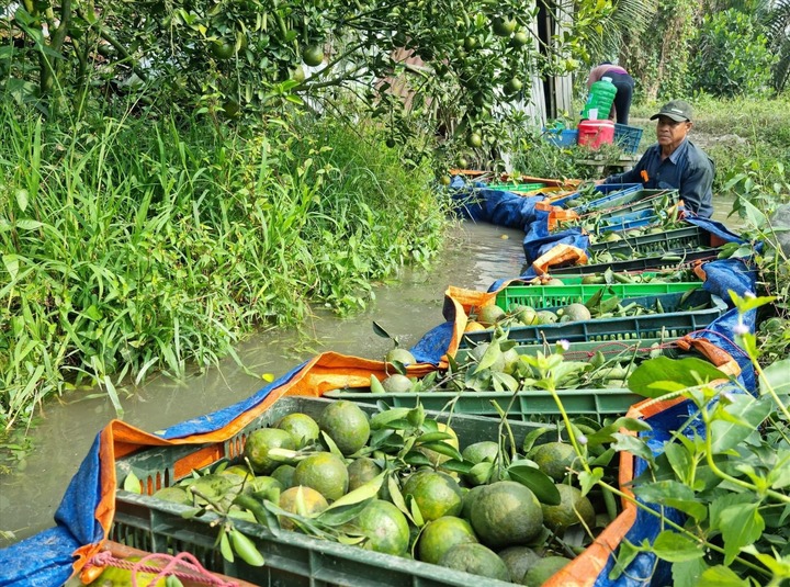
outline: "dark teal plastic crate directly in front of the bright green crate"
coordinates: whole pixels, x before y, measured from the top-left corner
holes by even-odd
[[[512,326],[507,328],[508,339],[522,345],[541,342],[603,341],[603,340],[643,340],[658,338],[672,340],[707,327],[727,311],[724,301],[706,290],[692,290],[686,293],[670,293],[644,297],[627,297],[622,304],[636,302],[652,307],[658,300],[664,308],[661,314],[643,314],[613,318],[556,323],[535,326]],[[691,309],[704,306],[702,309]],[[464,332],[462,347],[490,341],[494,329]]]

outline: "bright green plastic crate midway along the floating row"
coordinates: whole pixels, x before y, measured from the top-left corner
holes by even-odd
[[[585,303],[599,291],[602,298],[639,297],[688,292],[700,287],[697,282],[675,283],[612,283],[612,284],[568,284],[568,285],[509,285],[497,293],[496,305],[505,312],[514,306],[531,306],[535,309],[566,306],[575,302]]]

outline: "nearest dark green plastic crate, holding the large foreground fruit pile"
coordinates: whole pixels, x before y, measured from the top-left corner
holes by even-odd
[[[268,587],[329,587],[392,586],[392,587],[467,587],[481,577],[439,567],[418,561],[368,551],[328,540],[318,540],[297,532],[279,531],[234,520],[266,557],[266,565],[251,567],[236,557],[227,562],[215,545],[217,528],[211,522],[218,518],[206,513],[199,518],[183,518],[191,508],[156,499],[150,496],[159,487],[170,486],[188,476],[195,465],[204,467],[222,460],[234,460],[244,451],[244,442],[252,430],[270,426],[286,414],[302,411],[318,417],[332,399],[285,396],[260,418],[233,438],[201,445],[156,447],[120,459],[115,463],[119,488],[115,494],[115,517],[110,540],[147,552],[190,552],[208,571]],[[373,405],[360,404],[368,414],[379,411]],[[430,413],[440,421],[449,414]],[[544,425],[510,424],[516,447],[521,447],[528,433]],[[493,418],[452,415],[452,428],[462,447],[478,440],[497,440],[499,421]],[[544,440],[542,440],[544,438]],[[548,442],[544,434],[538,442]],[[142,479],[147,495],[123,490],[125,477],[134,472]],[[510,585],[485,579],[486,585]]]

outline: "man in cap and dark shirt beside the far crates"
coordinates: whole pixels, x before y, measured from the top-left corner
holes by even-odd
[[[678,190],[687,210],[703,218],[713,215],[713,161],[687,135],[693,126],[691,105],[682,100],[664,104],[651,116],[658,118],[658,143],[647,148],[636,166],[623,173],[596,181],[642,183],[648,190]]]

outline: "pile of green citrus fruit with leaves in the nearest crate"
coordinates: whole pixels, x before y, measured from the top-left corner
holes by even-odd
[[[497,422],[490,430],[492,438],[460,439],[421,406],[369,416],[337,400],[315,419],[294,413],[252,431],[244,461],[195,472],[155,496],[226,520],[542,585],[616,512],[582,492],[582,462],[556,427],[531,428],[520,447],[496,432]]]

